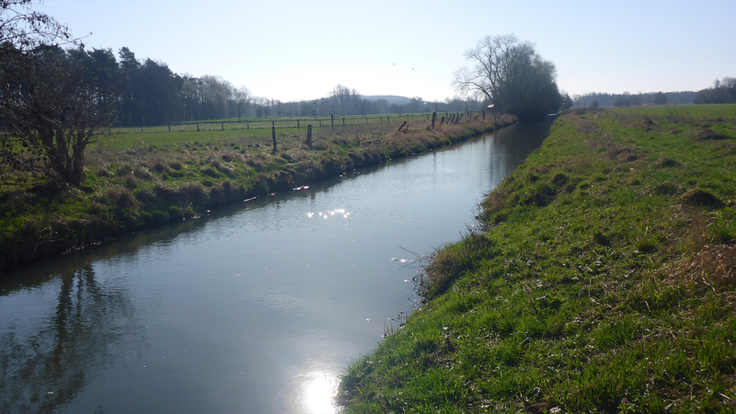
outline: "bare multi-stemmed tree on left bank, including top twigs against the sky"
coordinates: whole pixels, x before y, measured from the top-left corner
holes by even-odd
[[[23,152],[46,172],[79,183],[84,150],[112,119],[99,105],[97,76],[61,45],[80,44],[65,25],[32,10],[32,0],[0,0],[0,158],[29,168]]]

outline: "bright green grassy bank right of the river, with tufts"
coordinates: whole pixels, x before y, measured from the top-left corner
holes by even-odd
[[[734,412],[736,106],[575,111],[346,369],[350,413]]]

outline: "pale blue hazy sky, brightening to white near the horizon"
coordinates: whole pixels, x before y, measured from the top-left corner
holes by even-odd
[[[699,90],[736,77],[736,1],[46,0],[88,47],[129,47],[180,74],[283,102],[329,95],[456,95],[463,53],[513,33],[570,95]]]

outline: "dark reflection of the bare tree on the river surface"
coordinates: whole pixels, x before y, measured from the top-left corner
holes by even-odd
[[[0,333],[0,412],[52,412],[72,401],[131,342],[142,345],[124,290],[101,286],[90,265],[62,273],[59,281],[55,312],[33,332],[11,326]]]

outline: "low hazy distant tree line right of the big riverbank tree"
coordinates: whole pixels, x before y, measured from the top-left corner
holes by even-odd
[[[620,108],[637,105],[691,104],[694,99],[695,92],[587,93],[574,95],[573,103],[577,107],[615,106]]]

